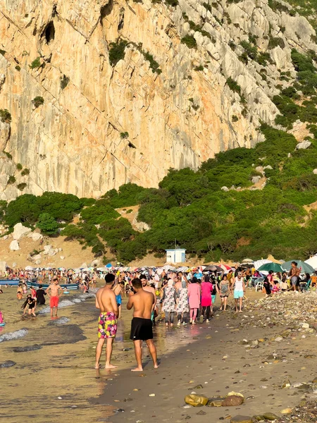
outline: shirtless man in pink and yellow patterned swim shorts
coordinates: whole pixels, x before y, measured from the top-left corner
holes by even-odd
[[[100,367],[99,361],[105,339],[107,340],[105,369],[116,368],[116,366],[113,366],[110,362],[113,339],[116,338],[117,333],[117,318],[119,314],[116,294],[112,290],[115,278],[116,276],[113,274],[106,274],[104,278],[106,285],[100,288],[96,294],[96,308],[100,309],[100,315],[98,320],[98,344],[96,349],[95,369],[99,369]]]

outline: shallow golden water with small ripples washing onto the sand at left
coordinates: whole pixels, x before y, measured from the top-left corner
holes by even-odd
[[[6,326],[0,328],[0,364],[8,360],[16,363],[0,368],[2,419],[6,423],[16,423],[21,417],[30,417],[34,423],[106,421],[112,408],[92,404],[92,400],[103,393],[108,379],[135,366],[129,338],[132,312],[125,309],[126,300],[123,299],[123,319],[118,322],[113,346],[113,364],[118,369],[96,372],[99,312],[94,298],[82,301],[85,295],[67,295],[56,320],[46,313],[47,306],[38,307],[37,317],[23,317],[23,301],[16,300],[15,292],[16,288],[4,288],[0,297],[6,321]],[[164,324],[158,324],[154,337],[159,357],[192,342],[199,330],[199,325],[166,329]],[[145,361],[149,360],[147,354],[144,348]],[[102,366],[104,360],[103,354]]]

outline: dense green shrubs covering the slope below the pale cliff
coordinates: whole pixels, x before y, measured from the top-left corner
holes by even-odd
[[[317,126],[312,132],[317,135]],[[317,252],[317,212],[304,206],[317,200],[317,139],[309,149],[296,150],[293,135],[262,125],[266,141],[216,154],[198,171],[170,169],[159,188],[128,183],[99,200],[44,192],[21,195],[0,203],[0,219],[12,230],[19,221],[44,233],[57,228],[69,240],[92,247],[102,256],[106,247],[122,262],[163,255],[176,243],[187,254],[211,259],[306,258]],[[290,153],[290,154],[289,154]],[[290,157],[289,157],[290,156]],[[257,166],[269,166],[263,190],[251,190],[251,178],[262,176]],[[234,185],[237,189],[223,191]],[[139,221],[149,231],[139,233],[116,211],[139,204]],[[73,216],[80,220],[73,224]]]

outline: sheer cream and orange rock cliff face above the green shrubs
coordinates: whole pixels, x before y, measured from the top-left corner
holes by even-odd
[[[191,30],[189,21],[206,32]],[[285,42],[270,50],[266,80],[263,66],[238,59],[238,44],[250,34],[261,51],[269,37]],[[185,35],[197,49],[180,42]],[[155,186],[170,167],[197,168],[216,152],[254,145],[262,140],[259,122],[273,124],[278,114],[271,97],[280,73],[294,72],[290,49],[316,50],[313,35],[304,18],[275,13],[266,0],[179,0],[175,7],[0,0],[0,109],[11,114],[11,122],[0,122],[0,149],[9,153],[0,155],[0,198],[45,190],[97,197],[127,182]],[[128,42],[125,56],[111,66],[109,48],[119,39]],[[35,97],[44,104],[36,106]],[[15,181],[8,184],[9,176]]]

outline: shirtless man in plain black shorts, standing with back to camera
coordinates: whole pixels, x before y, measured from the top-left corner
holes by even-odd
[[[142,341],[147,341],[147,348],[151,354],[154,369],[159,366],[156,359],[156,348],[153,342],[153,330],[151,322],[151,312],[155,303],[155,296],[142,288],[142,282],[135,278],[132,281],[133,290],[129,293],[127,309],[133,309],[133,319],[131,322],[130,339],[135,345],[135,358],[137,367],[132,372],[142,372]]]

